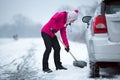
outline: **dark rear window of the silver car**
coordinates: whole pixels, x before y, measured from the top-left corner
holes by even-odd
[[[109,0],[105,2],[105,13],[114,14],[120,12],[120,1]]]

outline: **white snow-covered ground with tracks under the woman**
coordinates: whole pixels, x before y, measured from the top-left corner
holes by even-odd
[[[68,70],[55,70],[53,50],[49,58],[52,73],[42,72],[44,43],[41,38],[0,39],[0,80],[94,80],[88,78],[89,65],[85,68],[73,66],[73,58],[61,44],[61,61]],[[70,41],[70,49],[78,60],[88,62],[85,44]],[[119,80],[99,78],[96,80]]]

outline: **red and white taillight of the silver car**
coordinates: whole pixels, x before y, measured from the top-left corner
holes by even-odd
[[[106,24],[106,18],[105,15],[98,15],[94,22],[94,33],[107,33],[107,24]]]

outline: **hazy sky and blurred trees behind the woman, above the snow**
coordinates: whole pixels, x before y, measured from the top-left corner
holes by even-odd
[[[93,15],[101,0],[0,0],[0,38],[41,37],[41,27],[56,11],[79,10],[79,19],[68,27],[68,38],[84,42],[81,18]]]

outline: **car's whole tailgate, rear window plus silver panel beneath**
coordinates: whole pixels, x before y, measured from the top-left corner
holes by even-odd
[[[120,42],[120,1],[105,0],[105,13],[109,40]]]

